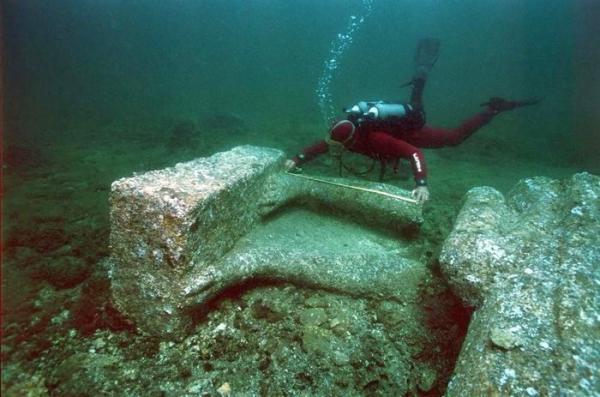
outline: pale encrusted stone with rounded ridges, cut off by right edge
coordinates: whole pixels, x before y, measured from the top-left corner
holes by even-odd
[[[474,305],[448,396],[600,393],[600,178],[469,191],[441,254]]]

